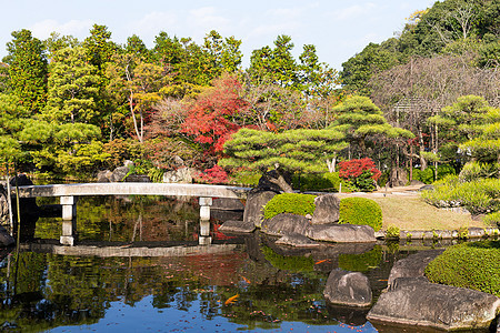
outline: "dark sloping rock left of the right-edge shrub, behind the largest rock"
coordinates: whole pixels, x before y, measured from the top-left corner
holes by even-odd
[[[423,276],[427,265],[440,255],[444,250],[427,250],[411,254],[406,259],[398,260],[392,266],[388,279],[389,287],[396,279],[399,278],[419,278]]]

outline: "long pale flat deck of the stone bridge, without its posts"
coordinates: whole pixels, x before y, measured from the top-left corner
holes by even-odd
[[[249,188],[177,183],[81,183],[19,186],[21,198],[86,195],[172,195],[244,199]]]

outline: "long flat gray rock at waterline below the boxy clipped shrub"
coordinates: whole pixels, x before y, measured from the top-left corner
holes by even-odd
[[[310,225],[306,235],[316,241],[336,243],[370,243],[377,241],[373,228],[354,224]]]

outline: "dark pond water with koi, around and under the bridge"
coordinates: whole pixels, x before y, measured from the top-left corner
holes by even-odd
[[[50,204],[41,199],[39,204]],[[60,246],[59,218],[26,229],[0,264],[0,325],[8,332],[377,332],[369,309],[327,304],[332,269],[363,272],[374,296],[406,244],[280,248],[259,233],[198,245],[196,200],[81,198],[78,245]]]

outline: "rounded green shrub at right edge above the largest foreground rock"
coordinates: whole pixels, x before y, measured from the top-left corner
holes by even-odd
[[[448,248],[426,268],[434,283],[469,287],[500,296],[500,241]]]

